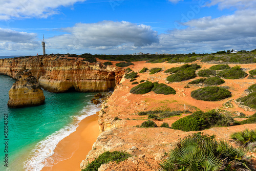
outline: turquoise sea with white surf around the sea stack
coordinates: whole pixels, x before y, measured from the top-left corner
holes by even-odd
[[[57,143],[75,131],[77,124],[100,110],[90,100],[95,93],[50,93],[45,104],[10,109],[8,92],[15,81],[0,75],[0,170],[41,170]],[[4,115],[8,115],[8,153],[4,152]],[[4,157],[8,154],[8,167]]]

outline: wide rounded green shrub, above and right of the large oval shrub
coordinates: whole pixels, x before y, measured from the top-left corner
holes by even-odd
[[[246,77],[248,74],[240,69],[227,69],[220,71],[218,77],[223,77],[225,79],[240,79]]]

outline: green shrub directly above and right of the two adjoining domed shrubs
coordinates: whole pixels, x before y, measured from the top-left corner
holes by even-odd
[[[191,78],[195,78],[197,76],[195,70],[188,71],[178,71],[177,73],[170,75],[166,78],[169,82],[180,82],[185,81]]]

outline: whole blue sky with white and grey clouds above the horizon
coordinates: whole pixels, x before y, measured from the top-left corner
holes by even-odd
[[[0,56],[256,49],[255,0],[0,0]]]

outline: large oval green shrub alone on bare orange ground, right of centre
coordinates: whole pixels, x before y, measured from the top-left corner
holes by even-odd
[[[231,96],[231,93],[220,87],[205,87],[191,92],[191,97],[203,101],[219,101]]]

